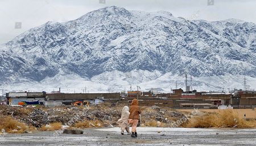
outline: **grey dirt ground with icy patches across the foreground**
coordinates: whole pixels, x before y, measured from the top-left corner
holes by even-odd
[[[7,134],[0,145],[256,145],[256,129],[138,127],[138,137],[119,128],[86,128],[83,135],[59,132]]]

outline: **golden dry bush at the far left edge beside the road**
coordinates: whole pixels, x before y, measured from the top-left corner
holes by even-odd
[[[24,133],[28,130],[28,127],[24,123],[20,123],[18,120],[5,116],[0,120],[0,130],[4,129],[8,133]]]

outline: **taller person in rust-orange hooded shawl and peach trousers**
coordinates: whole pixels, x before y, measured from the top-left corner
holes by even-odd
[[[139,122],[139,114],[141,109],[139,108],[139,102],[137,99],[133,99],[130,106],[129,123],[131,124],[131,137],[137,137],[137,125]]]

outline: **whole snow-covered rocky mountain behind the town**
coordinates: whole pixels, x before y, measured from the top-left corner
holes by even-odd
[[[0,50],[4,85],[53,80],[52,86],[67,86],[60,79],[73,76],[75,83],[104,85],[101,90],[108,85],[113,90],[136,84],[154,87],[154,82],[169,90],[172,81],[184,80],[184,73],[205,78],[195,86],[209,87],[220,87],[221,79],[214,85],[206,78],[256,78],[254,23],[191,21],[166,11],[106,7],[69,22],[32,28]]]

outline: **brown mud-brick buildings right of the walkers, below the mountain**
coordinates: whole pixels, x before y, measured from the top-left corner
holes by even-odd
[[[204,109],[218,109],[227,107],[234,109],[247,109],[256,107],[256,91],[237,90],[229,93],[225,92],[197,92],[174,89],[172,93],[155,94],[152,91],[128,91],[127,98],[151,99],[158,98],[160,103],[155,105],[168,105],[177,109],[191,109],[193,107]],[[164,102],[168,101],[168,102]],[[222,105],[222,106],[221,106]],[[221,107],[220,107],[221,106]]]

